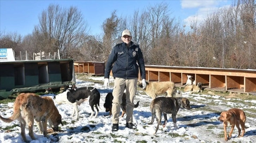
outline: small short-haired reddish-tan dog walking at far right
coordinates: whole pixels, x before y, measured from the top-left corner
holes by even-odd
[[[244,111],[241,110],[241,109],[232,108],[232,109],[229,109],[228,111],[223,111],[223,112],[221,112],[220,117],[218,118],[218,120],[220,122],[223,122],[224,135],[225,135],[224,141],[227,141],[228,139],[231,138],[231,134],[234,130],[235,125],[238,129],[238,136],[237,137],[243,137],[245,129],[248,128],[248,127],[245,127],[246,116],[244,114]],[[229,136],[227,137],[228,122],[231,125],[231,130],[230,130]],[[240,129],[239,125],[241,125],[241,127],[242,127],[242,135],[240,135],[241,129]]]

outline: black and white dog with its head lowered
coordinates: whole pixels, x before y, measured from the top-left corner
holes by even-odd
[[[97,109],[96,114],[94,117],[98,115],[99,109],[99,100],[100,100],[100,94],[99,91],[96,88],[93,87],[80,87],[77,89],[68,89],[65,92],[58,94],[55,96],[55,101],[57,104],[72,104],[73,107],[73,113],[72,116],[77,114],[76,119],[78,119],[78,106],[84,101],[88,101],[89,99],[89,105],[92,108],[92,113],[90,118],[95,113],[93,105],[95,105],[95,108]]]

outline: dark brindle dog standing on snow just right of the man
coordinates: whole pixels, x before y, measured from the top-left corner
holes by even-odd
[[[178,129],[177,124],[176,124],[176,115],[179,111],[179,108],[185,108],[190,110],[190,102],[187,98],[182,98],[182,97],[157,97],[154,98],[151,103],[150,103],[150,111],[152,114],[152,119],[151,122],[148,124],[153,124],[154,118],[156,117],[157,119],[157,130],[159,128],[159,125],[161,123],[162,119],[162,114],[164,113],[164,124],[163,127],[166,126],[167,123],[167,114],[172,114],[172,121],[174,124],[174,127]]]

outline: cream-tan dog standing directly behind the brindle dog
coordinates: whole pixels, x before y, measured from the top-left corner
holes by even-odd
[[[143,91],[153,99],[158,95],[167,93],[167,97],[182,97],[181,91],[178,91],[175,87],[175,84],[171,81],[163,82],[147,82],[146,88]],[[142,80],[139,81],[138,87],[143,88]]]

